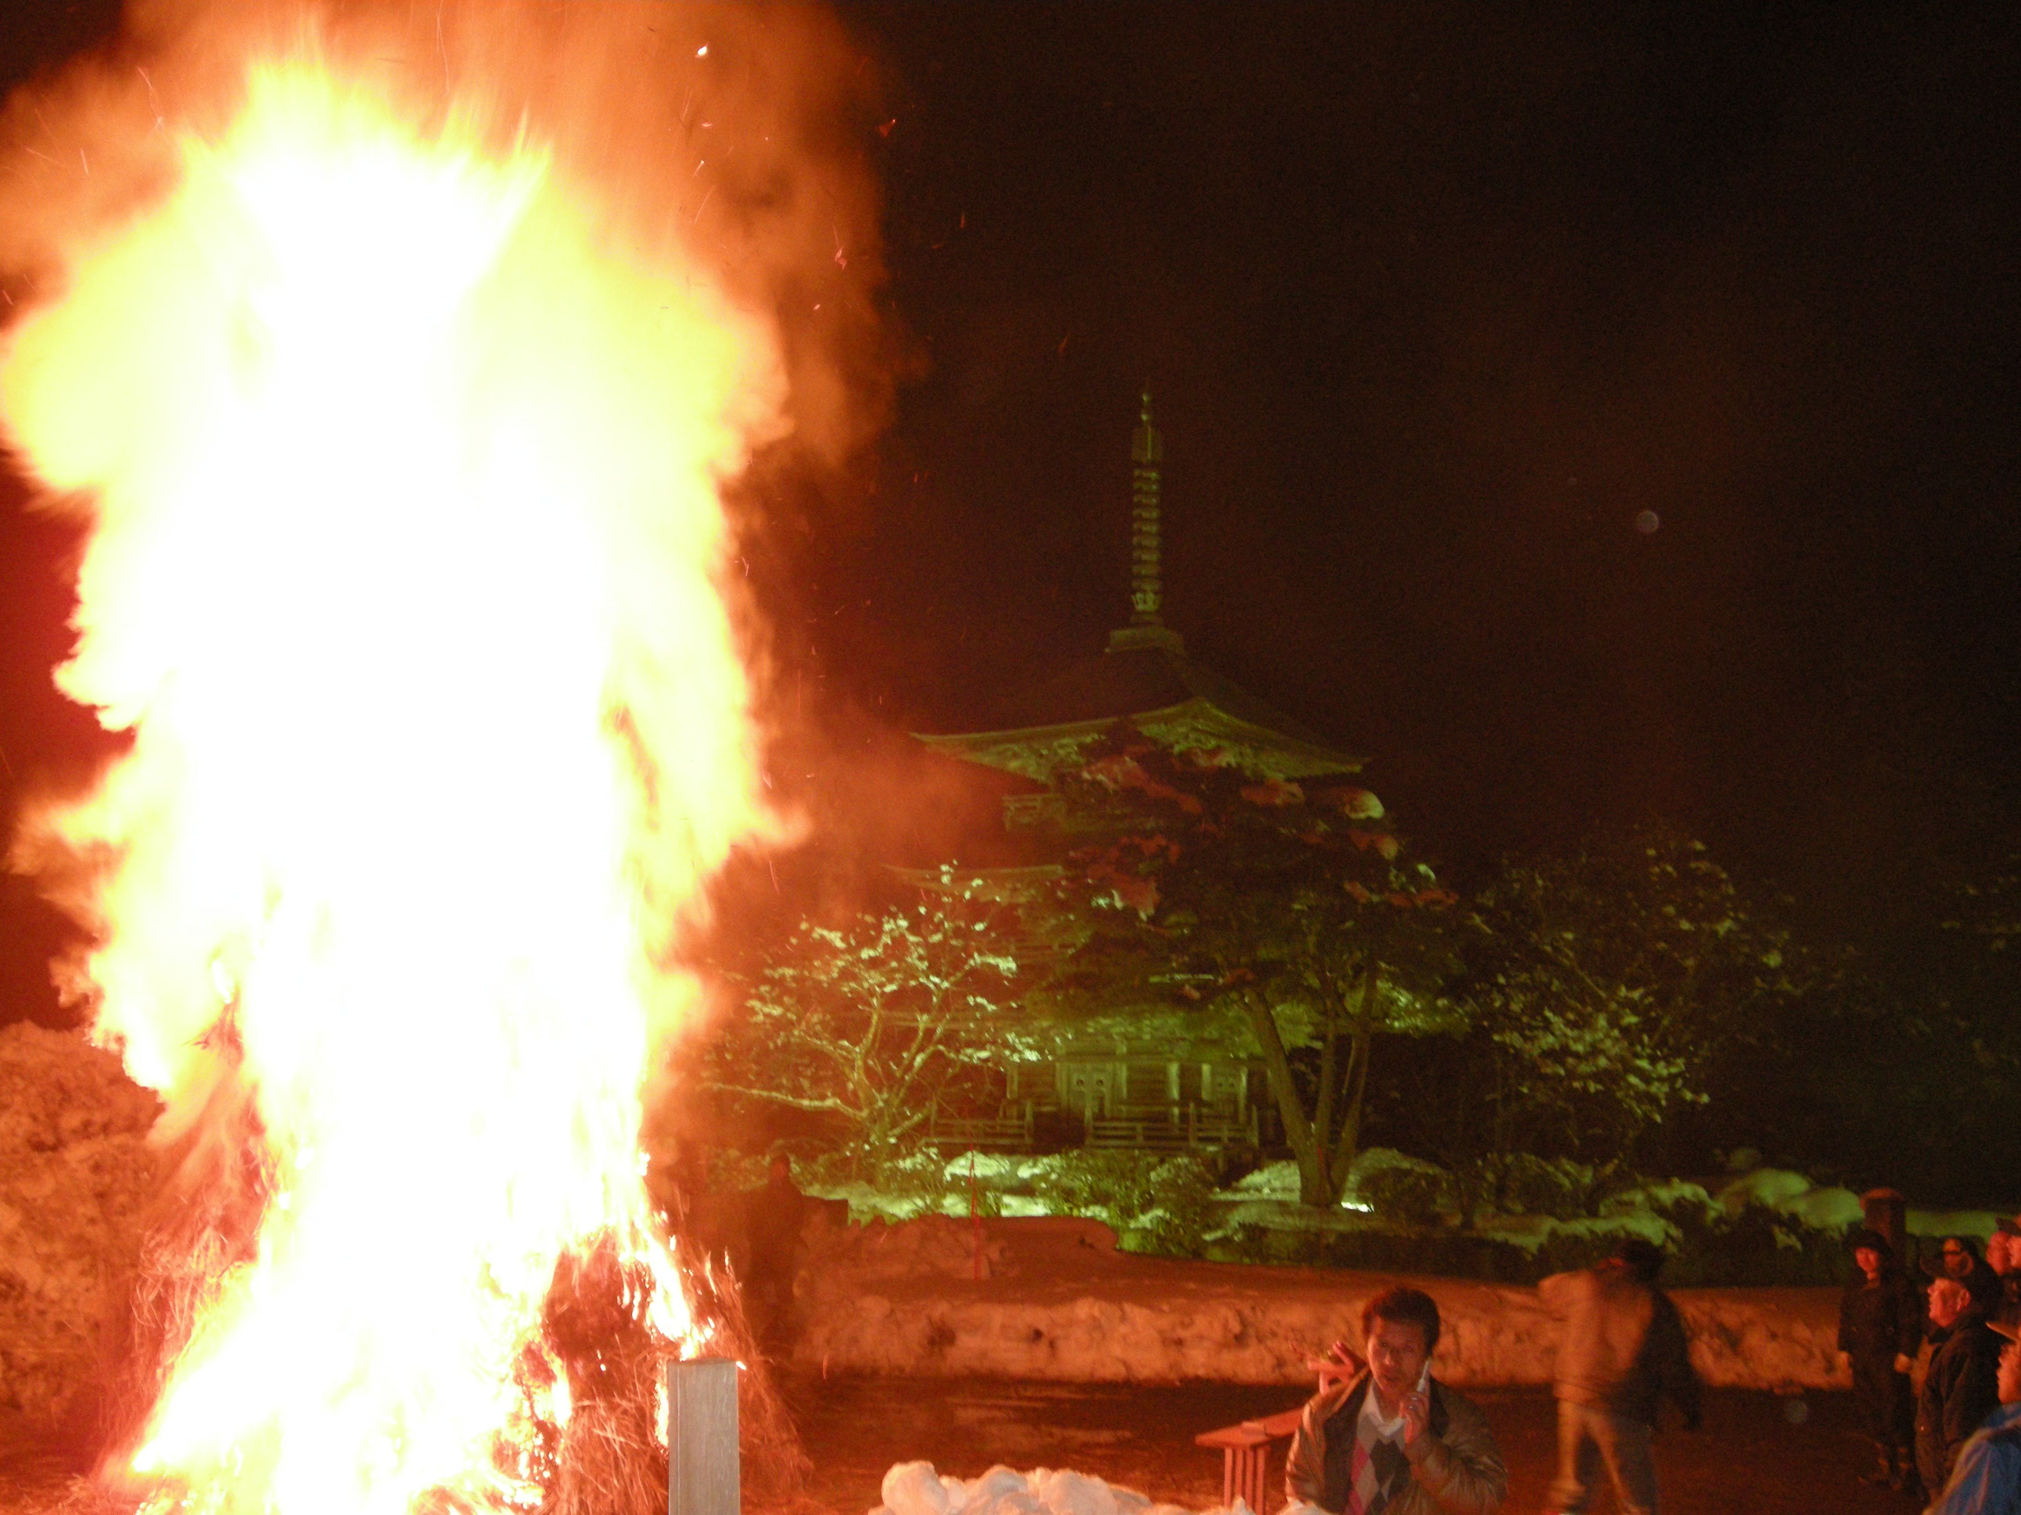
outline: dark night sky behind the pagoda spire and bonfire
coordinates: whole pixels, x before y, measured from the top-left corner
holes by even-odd
[[[0,22],[6,83],[111,14]],[[1888,941],[2013,814],[2011,8],[843,14],[918,372],[756,533],[825,705],[960,729],[1101,646],[1148,378],[1168,624],[1433,856],[1669,818]],[[10,796],[87,729],[18,501]]]

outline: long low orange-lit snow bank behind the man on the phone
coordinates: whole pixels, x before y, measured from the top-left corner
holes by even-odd
[[[920,1240],[907,1232],[924,1228]],[[1548,1384],[1558,1325],[1536,1289],[1376,1273],[1150,1258],[1087,1220],[930,1218],[851,1228],[812,1248],[796,1357],[861,1374],[1055,1382],[1308,1384],[1308,1359],[1354,1335],[1366,1299],[1411,1283],[1439,1301],[1449,1384]],[[964,1250],[966,1248],[966,1250]],[[895,1267],[899,1258],[918,1267]],[[855,1258],[869,1258],[865,1271]],[[1692,1359],[1718,1388],[1845,1388],[1837,1289],[1679,1289]],[[1029,1513],[1027,1513],[1029,1515]]]

